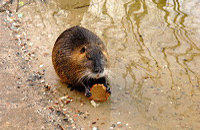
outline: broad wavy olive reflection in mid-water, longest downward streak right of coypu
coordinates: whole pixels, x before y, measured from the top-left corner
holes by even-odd
[[[126,67],[126,73],[123,75],[123,77],[125,79],[125,77],[128,74],[130,74],[130,76],[132,77],[134,88],[129,88],[129,91],[130,91],[131,95],[133,96],[133,98],[134,98],[135,94],[139,97],[140,100],[135,100],[135,102],[137,102],[137,109],[143,117],[147,118],[147,115],[146,115],[147,113],[144,113],[144,111],[146,111],[148,109],[151,99],[147,98],[145,95],[143,95],[143,92],[141,92],[143,89],[142,87],[143,87],[144,82],[143,82],[143,80],[141,80],[140,82],[136,83],[136,76],[134,75],[133,69],[132,69],[132,67],[135,67],[135,68],[140,67],[140,68],[146,70],[147,72],[150,71],[149,70],[150,60],[145,56],[143,48],[146,48],[146,50],[148,50],[148,49],[145,46],[143,36],[140,33],[141,20],[143,17],[145,17],[148,14],[147,5],[144,0],[136,0],[136,1],[132,0],[132,1],[124,4],[124,8],[126,11],[126,15],[123,17],[122,25],[125,28],[126,21],[128,21],[130,23],[129,26],[131,27],[132,35],[135,38],[136,44],[140,48],[138,50],[138,54],[140,55],[141,60],[143,61],[144,65],[148,65],[148,67],[144,67],[144,65],[141,65],[141,64],[136,63],[135,61],[131,60],[131,62]],[[126,30],[127,29],[125,29],[125,31]],[[127,33],[126,33],[126,36],[127,36]],[[133,46],[135,46],[135,45],[133,44]],[[150,52],[149,52],[149,55],[151,56]],[[154,58],[152,57],[152,59],[154,59]],[[143,77],[143,78],[145,78],[145,77]],[[133,90],[134,90],[135,94],[133,94]]]

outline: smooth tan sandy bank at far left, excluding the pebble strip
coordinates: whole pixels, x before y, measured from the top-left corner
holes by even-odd
[[[51,129],[54,125],[43,114],[38,92],[26,83],[31,74],[12,31],[0,14],[0,129]],[[32,89],[32,90],[31,90]],[[35,97],[35,98],[33,98]]]

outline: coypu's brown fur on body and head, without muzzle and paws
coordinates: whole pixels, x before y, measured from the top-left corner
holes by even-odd
[[[94,33],[83,27],[65,30],[53,47],[54,69],[67,84],[79,85],[86,72],[94,69],[95,60],[102,68],[108,66],[106,47]]]

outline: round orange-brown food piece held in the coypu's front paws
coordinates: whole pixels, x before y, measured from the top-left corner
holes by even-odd
[[[106,92],[106,87],[103,84],[95,84],[90,89],[92,96],[90,97],[91,100],[94,101],[106,101],[110,96],[110,93]]]

